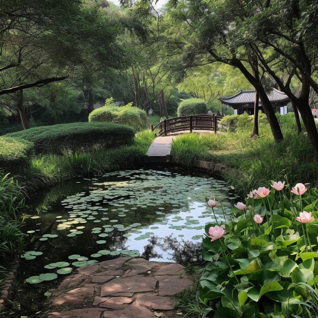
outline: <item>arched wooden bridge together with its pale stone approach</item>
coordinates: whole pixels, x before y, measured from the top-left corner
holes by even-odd
[[[176,133],[197,131],[198,133],[217,131],[218,121],[222,117],[215,115],[197,114],[165,119],[155,126],[151,125],[151,130],[158,131],[159,137],[150,145],[145,162],[165,163],[170,161],[171,144]]]

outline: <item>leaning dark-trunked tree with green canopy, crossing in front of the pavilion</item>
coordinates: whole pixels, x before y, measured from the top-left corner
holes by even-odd
[[[187,65],[222,62],[239,69],[245,78],[258,91],[263,109],[268,118],[275,142],[283,139],[278,120],[267,97],[260,78],[253,75],[251,58],[257,55],[250,43],[242,41],[236,25],[241,4],[232,1],[202,2],[183,0],[167,7],[172,29],[178,32],[186,43],[185,60]],[[245,14],[245,12],[243,12]],[[243,19],[244,15],[242,15]],[[207,56],[209,54],[210,56]]]

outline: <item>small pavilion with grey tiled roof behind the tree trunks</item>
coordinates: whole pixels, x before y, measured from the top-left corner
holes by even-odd
[[[289,97],[277,89],[267,94],[274,111],[280,114],[287,114],[287,104],[290,102]],[[229,105],[234,108],[234,114],[240,115],[244,112],[254,114],[255,90],[241,90],[231,97],[219,98],[222,104]],[[259,110],[263,111],[262,102],[259,100]]]

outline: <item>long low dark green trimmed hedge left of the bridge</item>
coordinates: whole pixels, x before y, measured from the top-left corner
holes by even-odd
[[[69,154],[131,145],[135,132],[114,123],[74,122],[35,127],[5,136],[34,143],[37,154]]]

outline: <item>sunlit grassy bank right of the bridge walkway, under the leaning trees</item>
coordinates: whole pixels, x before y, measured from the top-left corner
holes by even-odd
[[[254,140],[249,126],[235,133],[186,134],[173,142],[172,154],[187,166],[206,160],[237,169],[236,175],[228,174],[226,179],[241,194],[285,178],[317,185],[318,165],[307,136],[297,136],[291,115],[279,120],[284,135],[279,144],[274,143],[269,125],[263,124]]]

